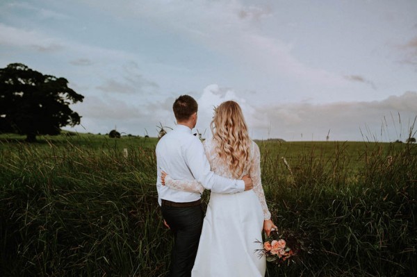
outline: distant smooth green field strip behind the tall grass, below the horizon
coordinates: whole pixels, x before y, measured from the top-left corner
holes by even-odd
[[[13,149],[13,146],[24,144],[25,136],[14,134],[0,134],[0,149]],[[268,140],[255,140],[263,154],[263,160],[279,160],[286,158],[288,164],[297,166],[300,156],[326,160],[331,162],[341,156],[347,167],[357,171],[366,162],[366,153],[377,153],[388,157],[393,152],[402,151],[406,144],[388,142],[277,142]],[[154,149],[158,139],[156,137],[122,136],[119,139],[108,135],[95,135],[77,133],[72,135],[39,136],[38,142],[33,144],[38,149],[50,149],[51,145],[60,148],[68,146],[85,147],[90,151],[120,151],[135,148]]]

